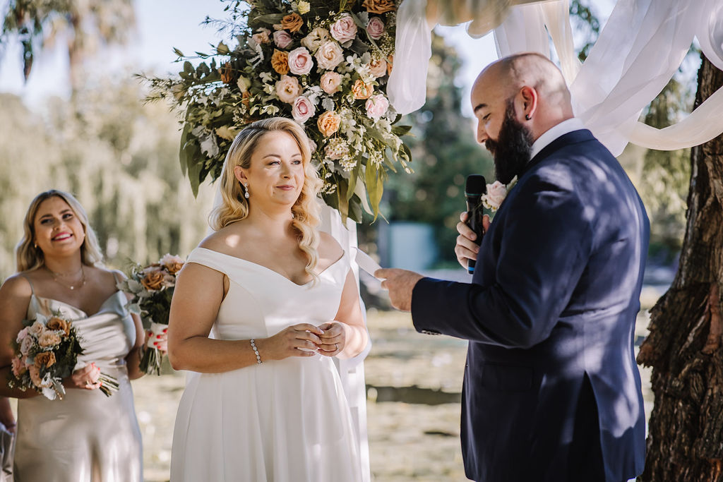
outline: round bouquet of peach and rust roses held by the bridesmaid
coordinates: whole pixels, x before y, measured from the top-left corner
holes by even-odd
[[[34,320],[25,320],[25,327],[12,343],[15,356],[8,386],[23,392],[33,389],[48,400],[63,400],[63,379],[70,376],[82,355],[80,337],[72,322],[54,314],[38,314]],[[100,391],[107,397],[118,390],[114,377],[101,373]]]

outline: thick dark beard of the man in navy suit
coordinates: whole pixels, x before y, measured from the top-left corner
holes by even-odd
[[[500,127],[497,140],[487,139],[484,147],[492,153],[495,160],[495,177],[502,184],[510,184],[529,163],[532,152],[532,133],[526,126],[515,119],[515,106],[512,99],[508,100],[505,109],[505,120]]]

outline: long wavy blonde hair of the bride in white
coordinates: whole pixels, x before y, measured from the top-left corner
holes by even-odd
[[[307,273],[316,279],[314,268],[319,260],[317,248],[319,246],[319,204],[317,195],[322,186],[322,180],[316,168],[311,163],[311,142],[304,129],[291,119],[272,117],[262,119],[246,126],[231,143],[226,154],[221,173],[221,205],[215,207],[209,217],[211,228],[218,231],[231,223],[242,220],[249,215],[249,199],[244,197],[244,189],[234,175],[234,168],[239,165],[244,169],[251,166],[251,156],[265,134],[269,132],[286,132],[294,137],[301,151],[301,160],[304,165],[304,186],[301,187],[299,199],[291,207],[294,215],[292,226],[299,235],[299,249],[304,252],[308,263]]]

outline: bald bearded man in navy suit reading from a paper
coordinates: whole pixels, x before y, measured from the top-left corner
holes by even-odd
[[[414,327],[469,340],[462,454],[478,482],[623,482],[643,470],[633,327],[649,239],[636,189],[573,117],[562,74],[521,53],[471,93],[497,179],[518,182],[479,252],[458,225],[471,283],[379,270]],[[463,217],[463,220],[465,218]]]

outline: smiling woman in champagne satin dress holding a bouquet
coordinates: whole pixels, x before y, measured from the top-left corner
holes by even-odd
[[[131,379],[139,369],[145,334],[116,288],[123,275],[102,267],[102,255],[80,203],[63,191],[38,194],[25,215],[16,248],[17,275],[0,288],[0,379],[13,357],[10,342],[23,319],[61,311],[82,337],[85,363],[64,380],[64,400],[21,392],[0,383],[0,395],[17,397],[16,482],[142,481],[140,429]],[[165,349],[165,337],[159,340]],[[118,379],[111,397],[98,388],[100,371]],[[0,422],[14,426],[8,401]],[[11,418],[11,419],[9,419]]]

